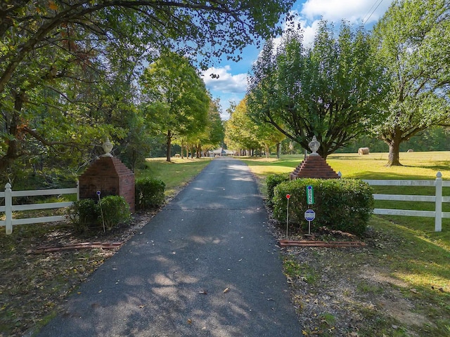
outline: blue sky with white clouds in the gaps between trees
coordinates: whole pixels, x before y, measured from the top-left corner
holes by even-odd
[[[295,2],[292,11],[297,13],[297,20],[304,29],[304,42],[314,39],[317,23],[323,19],[339,23],[342,19],[353,25],[365,22],[366,29],[371,29],[385,13],[392,0],[299,0]],[[203,72],[206,87],[213,98],[220,98],[222,119],[228,119],[225,113],[229,102],[239,103],[247,89],[247,75],[259,54],[255,46],[248,46],[242,53],[240,62],[224,61],[214,64]],[[210,74],[218,74],[218,79],[212,79]]]

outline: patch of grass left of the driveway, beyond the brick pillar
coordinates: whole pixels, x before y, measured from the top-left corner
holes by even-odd
[[[172,162],[169,163],[164,158],[152,158],[146,160],[146,169],[137,170],[135,175],[136,179],[150,177],[164,181],[165,195],[169,196],[197,176],[207,164],[210,164],[210,160],[210,158],[172,158]]]

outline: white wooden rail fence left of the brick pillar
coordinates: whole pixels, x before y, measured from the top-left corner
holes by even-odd
[[[6,227],[6,234],[13,232],[13,225],[27,225],[30,223],[49,223],[51,221],[65,220],[65,216],[43,216],[40,218],[23,218],[13,219],[13,211],[30,211],[36,209],[59,209],[61,207],[72,206],[72,201],[67,202],[48,202],[45,204],[26,204],[26,205],[13,205],[13,197],[31,197],[38,195],[60,195],[60,194],[74,194],[77,193],[77,199],[79,199],[78,187],[75,188],[62,188],[56,190],[26,190],[26,191],[13,191],[11,190],[11,184],[5,185],[5,192],[0,192],[0,199],[5,198],[5,206],[0,206],[0,213],[5,213],[5,220],[0,220],[0,227]]]

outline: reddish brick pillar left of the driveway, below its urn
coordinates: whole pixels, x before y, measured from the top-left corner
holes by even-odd
[[[79,177],[79,199],[120,195],[134,212],[134,173],[116,157],[100,157]]]

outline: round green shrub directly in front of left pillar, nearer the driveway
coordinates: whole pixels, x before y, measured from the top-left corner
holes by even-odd
[[[127,223],[131,220],[129,204],[124,197],[119,195],[108,195],[101,199],[101,213],[103,214],[103,223],[107,230],[112,230],[120,223]]]

